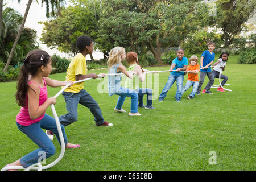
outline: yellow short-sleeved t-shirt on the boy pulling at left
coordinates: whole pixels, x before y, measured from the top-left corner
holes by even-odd
[[[84,55],[77,53],[69,63],[65,81],[76,81],[76,75],[86,75],[86,71],[86,59]],[[65,92],[79,93],[82,89],[84,89],[84,82],[79,82],[65,89]]]

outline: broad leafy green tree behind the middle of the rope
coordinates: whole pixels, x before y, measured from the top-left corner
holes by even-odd
[[[196,2],[105,0],[99,32],[127,50],[143,55],[150,49],[155,60],[163,63],[162,53],[179,46],[188,32],[197,29],[192,23]]]

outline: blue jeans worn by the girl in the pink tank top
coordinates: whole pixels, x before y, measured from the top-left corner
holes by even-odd
[[[32,164],[40,162],[38,161],[38,159],[42,156],[42,154],[46,154],[46,158],[49,158],[50,156],[55,154],[55,146],[53,145],[49,137],[46,135],[46,133],[44,133],[44,131],[41,129],[43,128],[46,130],[53,131],[53,133],[56,135],[57,140],[60,143],[60,137],[57,131],[57,125],[54,118],[47,114],[44,114],[44,117],[41,121],[32,123],[29,126],[22,126],[17,122],[16,124],[20,131],[26,134],[28,138],[30,138],[35,144],[39,146],[38,149],[20,158],[20,164],[22,164],[24,168],[27,168]],[[65,134],[65,128],[63,125],[60,126],[63,133],[64,142],[66,145],[68,143],[68,139]]]

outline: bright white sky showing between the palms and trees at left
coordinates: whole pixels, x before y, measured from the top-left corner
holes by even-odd
[[[6,7],[12,7],[14,10],[18,11],[22,16],[24,16],[24,13],[26,11],[27,7],[27,0],[22,0],[20,3],[18,3],[18,0],[3,0],[3,5],[5,5],[4,9]],[[35,29],[38,34],[38,42],[40,49],[43,49],[44,51],[48,52],[49,55],[59,55],[61,57],[68,57],[68,54],[58,51],[57,49],[49,49],[45,44],[42,44],[42,42],[39,41],[39,38],[41,37],[42,30],[43,30],[43,24],[39,24],[38,22],[45,22],[47,20],[46,18],[46,5],[41,4],[41,1],[38,0],[39,3],[36,2],[36,0],[33,0],[30,6],[30,10],[28,11],[25,27],[29,27],[32,29]],[[68,1],[66,3],[66,6],[68,6]],[[99,53],[94,51],[93,52],[94,59],[103,58],[103,53]],[[90,56],[86,56],[86,60],[90,60]]]

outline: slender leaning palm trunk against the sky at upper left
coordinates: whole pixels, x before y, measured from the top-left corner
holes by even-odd
[[[25,22],[26,22],[26,19],[27,19],[27,14],[28,14],[28,11],[30,10],[30,5],[31,5],[32,1],[33,1],[33,0],[28,0],[27,8],[26,8],[26,11],[25,11],[23,20],[22,20],[22,25],[21,25],[20,28],[19,28],[19,32],[18,32],[18,34],[17,34],[17,36],[16,36],[16,39],[15,39],[14,44],[13,44],[13,47],[11,48],[11,52],[10,52],[10,54],[9,54],[7,63],[6,63],[6,65],[5,65],[5,68],[3,68],[3,71],[4,71],[4,72],[7,71],[7,68],[8,68],[8,66],[9,66],[9,64],[10,64],[10,62],[11,62],[11,59],[13,59],[13,53],[14,53],[14,50],[15,50],[16,45],[18,44],[20,35],[22,34],[22,31],[23,31],[23,28],[24,28],[24,25],[25,25]]]

